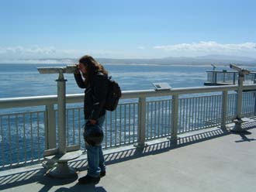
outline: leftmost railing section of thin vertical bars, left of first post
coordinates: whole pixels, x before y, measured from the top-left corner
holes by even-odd
[[[0,115],[0,161],[4,164],[33,162],[42,158],[45,111]]]

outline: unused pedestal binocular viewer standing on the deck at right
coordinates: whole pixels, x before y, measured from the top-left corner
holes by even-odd
[[[241,128],[243,122],[247,122],[246,118],[242,118],[242,101],[243,101],[243,83],[244,76],[250,74],[250,70],[245,68],[237,67],[234,64],[230,64],[230,68],[238,71],[238,89],[237,89],[237,116],[233,120],[235,123],[233,132],[244,132],[244,129]]]

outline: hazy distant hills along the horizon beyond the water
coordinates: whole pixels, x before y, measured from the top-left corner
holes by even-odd
[[[43,58],[36,59],[40,63],[76,63],[78,58]],[[35,60],[35,62],[36,62]],[[162,65],[226,65],[230,63],[256,66],[256,58],[237,57],[228,55],[206,55],[201,57],[164,57],[157,59],[112,59],[112,58],[96,58],[100,63],[112,64],[162,64]],[[28,60],[31,62],[31,60]]]

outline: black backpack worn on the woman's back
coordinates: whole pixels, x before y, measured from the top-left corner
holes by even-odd
[[[108,80],[109,87],[104,108],[108,111],[114,111],[118,105],[119,98],[122,96],[122,91],[119,84],[116,81],[112,81],[111,77]]]

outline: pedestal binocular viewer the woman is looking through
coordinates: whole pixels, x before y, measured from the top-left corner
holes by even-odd
[[[50,162],[57,162],[57,166],[50,170],[52,177],[69,178],[76,177],[76,172],[67,165],[72,159],[81,156],[80,146],[68,149],[66,146],[66,81],[64,74],[73,74],[75,66],[67,67],[40,67],[40,74],[59,74],[57,81],[57,112],[58,112],[58,148],[48,150],[44,158]]]

